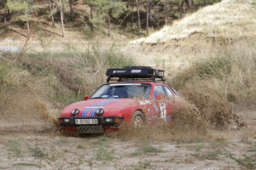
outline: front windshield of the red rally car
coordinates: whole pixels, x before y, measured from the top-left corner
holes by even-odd
[[[151,85],[147,83],[106,84],[99,88],[90,99],[143,98],[148,99]]]

